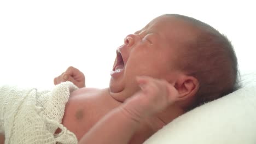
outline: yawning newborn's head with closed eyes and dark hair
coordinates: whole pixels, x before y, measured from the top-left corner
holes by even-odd
[[[235,90],[237,59],[229,40],[207,24],[182,15],[162,15],[118,48],[110,80],[113,98],[138,91],[135,77],[175,83],[185,110]]]

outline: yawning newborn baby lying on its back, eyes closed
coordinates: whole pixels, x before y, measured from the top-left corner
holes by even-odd
[[[70,94],[62,124],[79,143],[143,143],[174,118],[234,91],[237,59],[216,29],[167,14],[127,35],[110,75],[109,88]],[[79,70],[69,68],[55,84],[63,77],[85,86]]]

